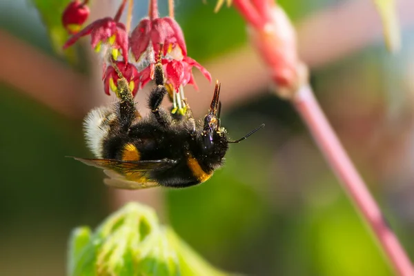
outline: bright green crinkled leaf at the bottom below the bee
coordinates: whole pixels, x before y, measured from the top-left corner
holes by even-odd
[[[81,227],[70,239],[68,275],[224,276],[204,262],[174,231],[159,225],[154,210],[130,203],[95,233]]]

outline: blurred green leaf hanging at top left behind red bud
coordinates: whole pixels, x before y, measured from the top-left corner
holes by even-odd
[[[77,62],[75,48],[63,50],[62,46],[68,40],[69,34],[61,23],[61,15],[70,0],[29,0],[33,4],[49,34],[53,50],[58,55],[66,57],[72,63]]]

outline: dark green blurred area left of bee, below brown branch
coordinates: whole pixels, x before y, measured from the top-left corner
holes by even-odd
[[[0,275],[63,275],[70,229],[108,212],[106,188],[96,171],[65,157],[88,155],[81,121],[10,87],[0,93]]]

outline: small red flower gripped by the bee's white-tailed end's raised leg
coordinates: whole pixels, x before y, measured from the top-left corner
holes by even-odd
[[[119,71],[121,71],[124,78],[126,78],[128,81],[132,95],[135,96],[139,88],[139,72],[137,68],[135,68],[135,66],[133,66],[131,63],[125,63],[124,61],[117,61],[116,64],[119,68]],[[106,68],[105,74],[103,75],[103,89],[107,95],[110,95],[109,90],[112,90],[112,92],[117,92],[118,79],[119,76],[115,69],[112,66],[108,66],[108,68]]]

